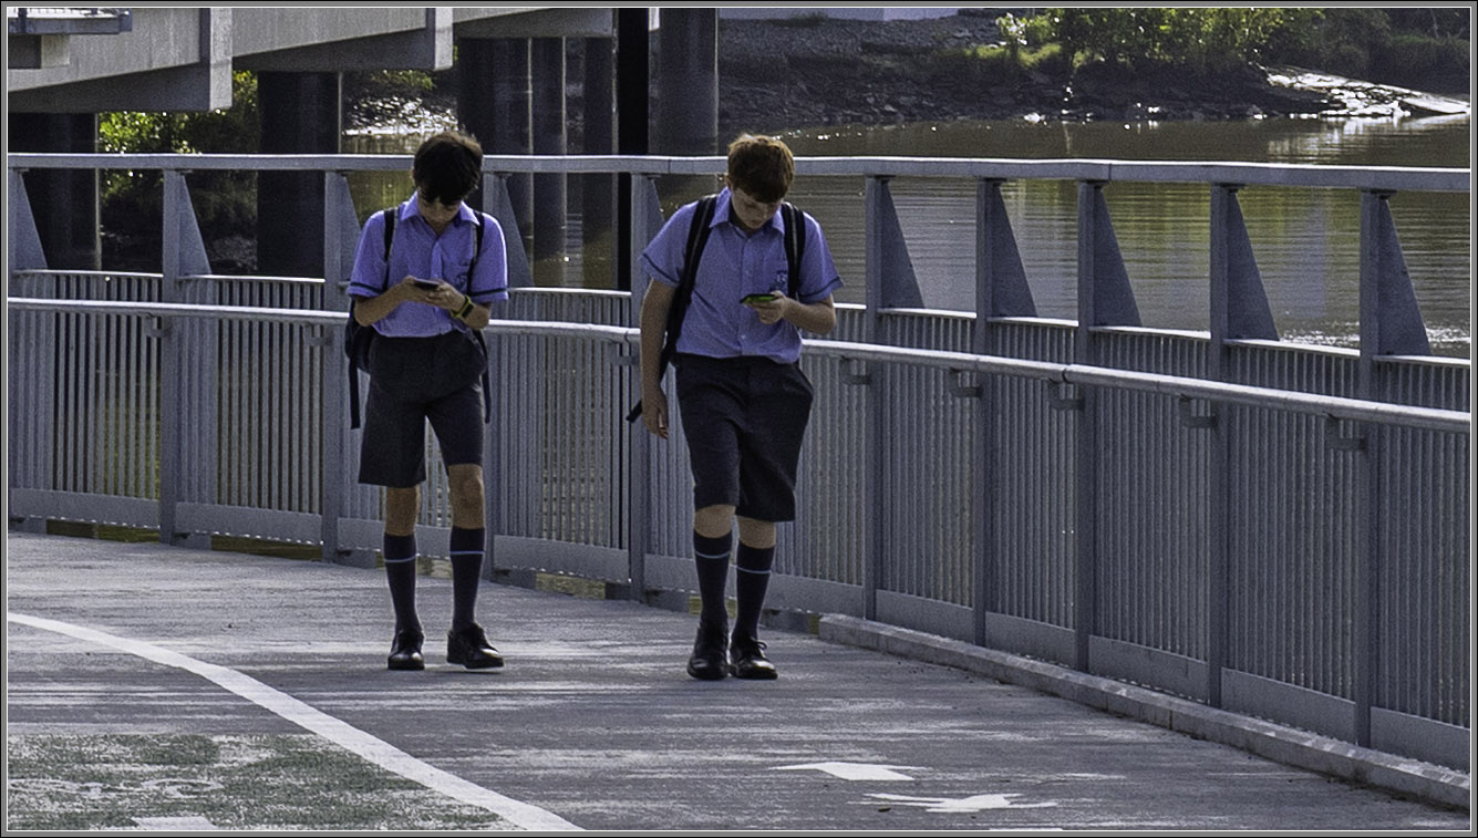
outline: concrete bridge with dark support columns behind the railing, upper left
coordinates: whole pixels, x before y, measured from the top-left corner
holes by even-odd
[[[486,154],[712,154],[717,145],[715,9],[659,19],[644,7],[9,7],[7,18],[12,151],[96,151],[101,112],[229,108],[232,72],[242,69],[257,72],[266,154],[338,154],[343,72],[372,69],[455,69],[458,121]],[[671,34],[652,37],[661,31]],[[566,134],[571,38],[585,53],[584,148]],[[101,269],[98,174],[25,177],[49,266]],[[548,263],[576,198],[587,241],[609,238],[630,183],[605,176],[572,191],[565,174],[522,174],[508,179],[508,195],[526,253]],[[470,202],[482,208],[480,195]],[[260,273],[321,272],[322,207],[316,173],[260,176],[256,235],[270,242],[257,248]],[[628,287],[612,270],[612,284]]]

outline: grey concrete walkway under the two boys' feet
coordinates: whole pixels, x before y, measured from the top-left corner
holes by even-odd
[[[469,672],[442,659],[451,582],[421,576],[427,670],[390,672],[380,570],[19,532],[6,547],[7,831],[19,804],[43,817],[87,795],[78,811],[123,805],[134,829],[362,828],[333,808],[355,794],[346,774],[396,779],[375,794],[406,803],[371,828],[402,831],[1471,825],[1466,810],[811,634],[766,634],[777,681],[701,683],[683,672],[687,615],[485,584],[479,613],[507,667]],[[208,770],[154,757],[87,779],[142,742],[204,742]],[[251,760],[226,757],[244,742],[278,758],[259,754],[262,773],[234,786],[229,770]],[[273,769],[294,777],[290,801],[272,797],[269,764],[310,766]]]

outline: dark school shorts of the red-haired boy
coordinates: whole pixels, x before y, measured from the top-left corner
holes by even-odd
[[[721,504],[754,520],[795,520],[795,469],[814,395],[801,367],[702,355],[678,355],[675,365],[693,508]]]

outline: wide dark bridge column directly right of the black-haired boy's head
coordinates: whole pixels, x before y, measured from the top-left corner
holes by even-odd
[[[457,115],[483,154],[534,154],[528,38],[461,38],[457,41]],[[534,176],[505,180],[525,253],[532,253]],[[491,213],[486,198],[480,210]],[[514,231],[503,231],[513,236]]]

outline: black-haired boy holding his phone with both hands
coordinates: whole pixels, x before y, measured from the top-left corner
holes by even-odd
[[[482,371],[476,331],[489,306],[508,299],[503,229],[463,202],[482,176],[482,146],[455,132],[415,152],[415,194],[395,213],[386,263],[386,220],[365,222],[349,294],[353,318],[378,334],[370,353],[359,482],[386,486],[384,570],[395,607],[390,670],[423,670],[415,612],[415,519],[426,482],[426,423],[440,443],[451,489],[452,625],[446,661],[501,667],[474,618],[483,562]],[[482,225],[482,248],[476,248]],[[392,279],[398,278],[398,279]]]

